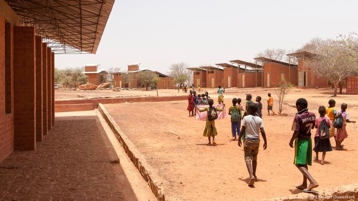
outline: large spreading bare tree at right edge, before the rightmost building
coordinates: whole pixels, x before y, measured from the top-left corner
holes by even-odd
[[[314,70],[318,77],[330,81],[334,89],[333,96],[337,96],[337,87],[341,82],[358,71],[358,60],[352,56],[354,51],[349,51],[342,44],[348,41],[342,39],[344,41],[315,38],[303,47],[305,51],[315,54],[306,58],[304,64]]]

